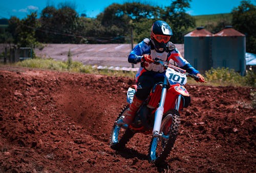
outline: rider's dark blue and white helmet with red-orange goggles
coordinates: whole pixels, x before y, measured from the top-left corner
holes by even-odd
[[[151,40],[157,52],[164,52],[166,43],[170,40],[173,31],[169,24],[162,20],[157,20],[151,27]]]

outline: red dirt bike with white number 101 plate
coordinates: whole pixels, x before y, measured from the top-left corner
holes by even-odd
[[[165,67],[164,81],[155,84],[129,127],[123,127],[116,123],[119,118],[124,118],[123,113],[129,108],[129,105],[122,109],[114,123],[110,145],[114,150],[121,150],[135,133],[152,133],[148,161],[159,164],[165,161],[174,146],[180,127],[179,111],[190,103],[189,93],[183,86],[187,82],[187,76],[196,81],[199,81],[199,77],[160,59],[154,60],[153,63]],[[136,87],[137,85],[133,85],[127,90],[129,104],[132,103]]]

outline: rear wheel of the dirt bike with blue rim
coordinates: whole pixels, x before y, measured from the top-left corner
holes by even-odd
[[[123,116],[123,113],[126,109],[129,108],[129,105],[124,107],[124,109],[118,115],[116,121]],[[111,131],[110,136],[110,146],[114,150],[122,150],[125,147],[125,144],[134,136],[134,132],[130,129],[124,129],[120,126],[117,126],[114,123],[114,126]]]

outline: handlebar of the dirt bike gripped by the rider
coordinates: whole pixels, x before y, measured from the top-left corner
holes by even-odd
[[[175,66],[175,65],[169,64],[168,61],[163,61],[163,60],[160,60],[159,58],[155,58],[155,60],[152,60],[152,62],[153,62],[154,64],[161,64],[161,65],[163,65],[165,68],[169,67],[169,68],[173,68],[174,70],[179,71],[179,72],[181,72],[181,73],[186,73],[186,76],[188,76],[188,77],[190,77],[190,78],[194,78],[195,81],[197,81],[197,82],[205,82],[205,83],[207,83],[206,81],[201,80],[199,76],[190,74],[190,73],[186,72],[186,70],[184,70],[184,69],[182,69],[182,68],[179,68],[179,67],[177,67],[177,66]],[[164,62],[167,63],[167,64],[164,64]]]

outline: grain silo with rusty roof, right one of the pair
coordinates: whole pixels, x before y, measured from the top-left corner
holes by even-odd
[[[228,67],[243,76],[246,69],[245,43],[245,35],[231,26],[226,26],[225,29],[214,34],[211,47],[212,67]]]

